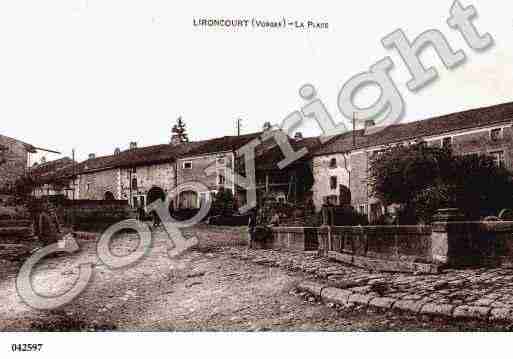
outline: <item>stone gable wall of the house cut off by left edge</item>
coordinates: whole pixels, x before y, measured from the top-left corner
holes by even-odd
[[[0,147],[6,147],[3,157],[7,160],[0,165],[0,188],[14,183],[27,168],[28,153],[23,142],[0,135]]]

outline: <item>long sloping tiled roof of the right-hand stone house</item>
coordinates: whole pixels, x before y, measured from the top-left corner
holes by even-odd
[[[328,141],[315,154],[347,152],[353,149],[483,127],[508,120],[513,121],[513,102],[433,117],[422,121],[391,125],[369,135],[364,135],[363,130],[357,130],[354,134],[356,146],[353,146],[353,132],[346,132]]]

